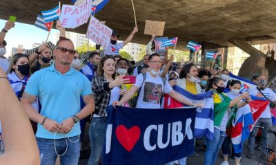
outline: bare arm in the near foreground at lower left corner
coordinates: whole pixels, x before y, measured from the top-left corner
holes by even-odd
[[[6,74],[0,68],[0,77]],[[39,150],[30,120],[6,78],[0,78],[0,120],[5,153],[1,164],[39,164]]]

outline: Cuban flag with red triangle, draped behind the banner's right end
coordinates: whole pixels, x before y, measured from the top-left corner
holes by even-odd
[[[204,94],[191,94],[190,92],[175,85],[175,91],[183,95],[190,102],[203,102],[204,107],[201,111],[197,111],[195,115],[195,137],[207,137],[213,140],[214,137],[214,99],[211,98],[213,92],[208,91]],[[184,107],[177,100],[165,95],[164,108],[180,108]]]

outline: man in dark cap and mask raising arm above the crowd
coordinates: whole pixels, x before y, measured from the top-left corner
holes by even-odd
[[[113,30],[112,35],[110,37],[110,43],[108,44],[108,48],[103,50],[104,54],[113,55],[113,56],[119,54],[119,51],[121,50],[121,48],[123,48],[124,45],[128,44],[132,40],[134,34],[137,32],[138,32],[138,28],[135,27],[125,41],[121,43],[117,43],[117,40],[120,36],[119,34],[117,34],[117,32],[115,32],[115,30]]]

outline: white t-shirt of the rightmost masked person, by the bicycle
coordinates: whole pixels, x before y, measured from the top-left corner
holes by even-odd
[[[266,87],[266,89],[262,90],[262,93],[269,98],[270,101],[275,101],[276,100],[276,94],[274,91],[272,91],[270,88]],[[257,88],[250,89],[249,91],[250,95],[257,96],[260,98],[264,98],[262,94],[258,91]],[[270,107],[266,107],[262,115],[260,115],[259,118],[271,118],[271,112],[270,112]]]

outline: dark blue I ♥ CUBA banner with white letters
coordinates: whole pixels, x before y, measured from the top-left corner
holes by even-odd
[[[166,164],[193,154],[195,109],[107,107],[103,165]]]

